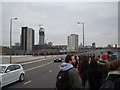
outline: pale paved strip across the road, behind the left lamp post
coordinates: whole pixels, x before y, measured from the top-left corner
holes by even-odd
[[[58,55],[46,55],[46,56],[15,55],[15,56],[12,56],[12,63],[25,64],[26,62],[29,62],[29,63],[31,61],[37,62],[40,59],[53,58],[55,56],[58,56]],[[9,64],[9,63],[10,63],[9,55],[0,56],[0,64]]]

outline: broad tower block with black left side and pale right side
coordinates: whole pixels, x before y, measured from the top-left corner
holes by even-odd
[[[22,27],[21,48],[24,51],[33,50],[34,46],[34,30],[28,27]]]

